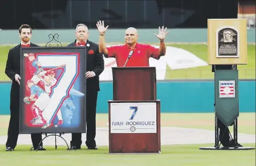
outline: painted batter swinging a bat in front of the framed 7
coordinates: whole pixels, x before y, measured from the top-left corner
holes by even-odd
[[[55,73],[54,70],[51,70],[49,72],[46,73],[47,76],[42,75],[43,78],[43,84],[44,84],[44,90],[45,92],[48,93],[48,96],[50,96],[51,94],[51,89],[52,87],[56,84],[57,80],[55,78]],[[62,119],[62,112],[60,111],[60,109],[57,112],[57,117],[59,119],[58,121],[58,125],[63,124],[63,119]]]

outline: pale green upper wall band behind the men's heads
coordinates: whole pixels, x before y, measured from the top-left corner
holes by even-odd
[[[99,35],[96,29],[91,29],[90,40],[98,42]],[[156,29],[138,29],[139,42],[158,43],[159,39],[154,34],[158,34]],[[124,29],[108,28],[106,32],[106,42],[124,42]],[[75,30],[32,30],[32,42],[36,44],[47,43],[49,41],[48,34],[59,34],[61,43],[71,43],[75,40]],[[207,43],[207,29],[169,29],[166,42],[175,43]],[[18,30],[0,30],[0,45],[19,43]],[[255,28],[247,30],[247,42],[255,43]]]

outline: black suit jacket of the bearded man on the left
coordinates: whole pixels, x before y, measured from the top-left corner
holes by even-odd
[[[30,42],[30,47],[40,47],[39,45]],[[19,95],[19,84],[15,81],[15,74],[21,76],[21,44],[11,48],[8,53],[5,74],[11,79],[11,94]],[[22,78],[21,78],[22,79]],[[17,101],[18,102],[18,101]]]

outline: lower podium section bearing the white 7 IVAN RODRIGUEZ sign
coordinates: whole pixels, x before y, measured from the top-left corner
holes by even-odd
[[[108,101],[109,153],[160,153],[160,101]]]

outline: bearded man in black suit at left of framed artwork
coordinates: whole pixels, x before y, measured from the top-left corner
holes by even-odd
[[[19,85],[20,77],[20,51],[21,47],[39,47],[30,42],[32,30],[27,24],[23,24],[19,28],[19,38],[21,43],[11,48],[8,53],[5,73],[11,79],[11,92],[10,92],[10,111],[11,117],[8,128],[8,138],[6,142],[6,151],[13,151],[17,146],[19,135]],[[31,134],[32,145],[34,150],[38,147],[42,140],[42,134]],[[40,143],[38,150],[46,150],[43,148],[43,143]]]

